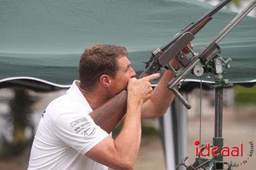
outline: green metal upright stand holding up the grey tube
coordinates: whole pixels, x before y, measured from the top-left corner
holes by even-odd
[[[215,76],[215,85],[212,85],[211,88],[215,88],[215,136],[212,141],[212,146],[210,147],[219,147],[220,150],[215,153],[219,156],[212,156],[212,159],[201,158],[200,156],[196,158],[196,161],[187,166],[185,164],[185,160],[188,158],[184,158],[180,164],[176,166],[178,168],[180,165],[186,167],[187,170],[196,170],[199,168],[203,168],[205,170],[224,170],[224,164],[228,164],[228,162],[223,161],[223,156],[221,155],[221,150],[223,147],[223,138],[222,138],[222,104],[223,104],[223,88],[231,87],[233,84],[230,84],[228,79],[223,78],[224,67],[229,68],[228,62],[231,59],[227,59],[226,61],[220,57],[221,48],[218,46],[216,48],[217,51],[211,58],[205,62],[204,70],[207,74],[211,73]],[[227,169],[231,169],[228,167]]]

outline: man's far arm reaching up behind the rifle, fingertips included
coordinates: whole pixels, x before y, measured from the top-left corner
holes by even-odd
[[[190,42],[188,46],[193,49],[194,45]],[[188,57],[189,51],[184,48],[182,51],[183,55]],[[170,65],[174,67],[180,67],[179,62],[174,59],[170,61]],[[174,93],[172,90],[169,90],[166,87],[166,83],[168,83],[171,79],[174,78],[173,71],[166,70],[163,74],[162,79],[158,82],[158,85],[152,92],[152,97],[148,101],[146,101],[142,106],[141,117],[142,118],[154,118],[160,117],[163,115],[170,104],[174,100]]]

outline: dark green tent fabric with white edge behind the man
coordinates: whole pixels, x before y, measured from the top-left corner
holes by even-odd
[[[78,79],[84,48],[95,43],[129,48],[139,75],[145,67],[141,61],[211,8],[195,0],[2,0],[0,84],[28,77],[53,86],[70,85]],[[200,52],[236,15],[227,10],[215,14],[193,40],[195,51]],[[221,56],[232,58],[231,68],[225,70],[231,82],[256,82],[255,28],[256,18],[247,16],[219,44]]]

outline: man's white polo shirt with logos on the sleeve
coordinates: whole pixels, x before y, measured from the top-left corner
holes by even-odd
[[[75,82],[42,115],[31,149],[29,170],[108,169],[84,156],[109,134],[88,115],[92,108]]]

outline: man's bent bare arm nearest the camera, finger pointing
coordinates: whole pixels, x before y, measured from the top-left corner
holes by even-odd
[[[127,113],[121,132],[116,139],[108,136],[95,145],[86,156],[114,169],[133,169],[141,138],[142,104],[151,98],[149,81],[159,77],[154,74],[139,80],[132,78],[127,91]]]

